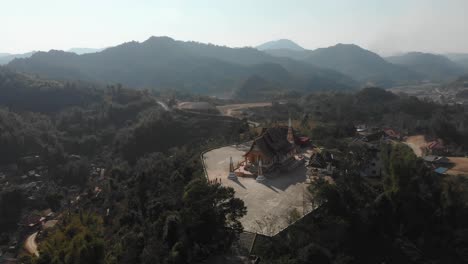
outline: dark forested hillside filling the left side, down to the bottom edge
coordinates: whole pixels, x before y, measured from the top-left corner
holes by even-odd
[[[18,223],[51,208],[58,228],[41,232],[39,257],[18,263],[197,263],[222,252],[246,209],[232,189],[206,182],[199,155],[247,129],[166,111],[146,91],[1,69],[2,250],[22,245],[28,231]],[[24,178],[31,169],[40,175]]]

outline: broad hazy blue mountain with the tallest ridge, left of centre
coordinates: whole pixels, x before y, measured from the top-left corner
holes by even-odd
[[[357,86],[341,73],[253,48],[228,48],[168,37],[151,37],[142,43],[129,42],[93,54],[39,52],[31,58],[16,59],[8,67],[52,79],[202,94],[230,94],[252,75],[273,81],[285,90],[346,90]],[[278,76],[278,68],[285,74]]]

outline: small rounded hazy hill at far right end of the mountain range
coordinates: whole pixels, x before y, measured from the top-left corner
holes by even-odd
[[[404,66],[431,81],[445,82],[465,73],[462,66],[445,56],[431,53],[409,52],[386,58],[387,61]]]

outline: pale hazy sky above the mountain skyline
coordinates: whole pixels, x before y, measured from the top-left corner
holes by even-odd
[[[468,52],[468,0],[0,0],[0,52],[170,36],[226,46],[288,38],[379,53]]]

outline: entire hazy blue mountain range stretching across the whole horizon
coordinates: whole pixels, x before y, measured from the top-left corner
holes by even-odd
[[[73,52],[70,52],[73,51]],[[14,59],[11,56],[15,56]],[[21,56],[21,57],[20,57]],[[257,48],[229,48],[151,37],[107,49],[74,48],[0,57],[20,72],[58,80],[121,83],[129,87],[179,89],[201,94],[271,95],[275,91],[350,90],[445,82],[468,72],[468,56],[451,59],[407,53],[387,59],[353,44],[307,50],[281,39]],[[262,90],[252,93],[254,86]],[[244,93],[244,95],[242,95]]]

